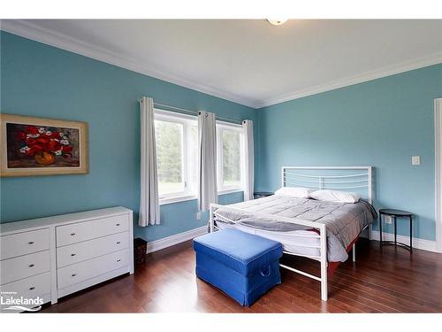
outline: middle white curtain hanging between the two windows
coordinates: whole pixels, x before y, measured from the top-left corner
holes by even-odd
[[[198,113],[198,209],[217,203],[217,126],[214,113]]]

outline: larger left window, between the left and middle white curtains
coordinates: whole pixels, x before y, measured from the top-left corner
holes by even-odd
[[[169,203],[196,195],[197,126],[194,117],[155,110],[160,203]]]

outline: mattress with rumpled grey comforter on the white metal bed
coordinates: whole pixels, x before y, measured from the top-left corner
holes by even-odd
[[[270,214],[272,218],[263,218],[254,212]],[[293,222],[278,220],[278,216],[293,218]],[[313,259],[320,255],[320,239],[316,231],[294,222],[299,219],[324,223],[330,262],[347,260],[347,246],[376,218],[375,209],[365,201],[345,204],[278,195],[225,205],[215,212],[217,228],[237,228],[261,235],[282,243],[284,251]]]

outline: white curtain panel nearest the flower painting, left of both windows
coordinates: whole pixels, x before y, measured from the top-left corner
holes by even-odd
[[[140,226],[160,223],[160,206],[158,203],[158,172],[156,168],[156,143],[154,101],[142,97],[141,111],[141,195]]]

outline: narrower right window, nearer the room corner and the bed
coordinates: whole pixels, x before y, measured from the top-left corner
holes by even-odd
[[[217,123],[218,191],[243,187],[244,139],[242,127]]]

